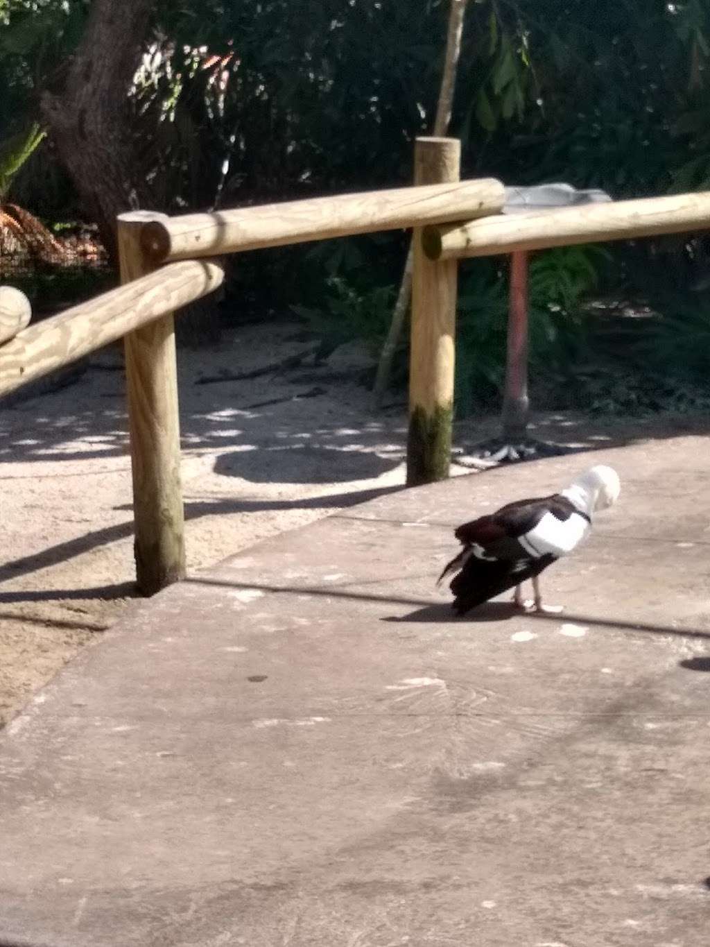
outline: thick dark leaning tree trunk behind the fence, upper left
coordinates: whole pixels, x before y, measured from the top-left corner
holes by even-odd
[[[94,0],[61,92],[45,92],[51,137],[116,262],[115,219],[144,204],[126,112],[154,0]]]

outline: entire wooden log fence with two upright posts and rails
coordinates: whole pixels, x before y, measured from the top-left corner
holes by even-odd
[[[215,290],[219,258],[261,247],[414,229],[407,483],[449,474],[457,260],[710,228],[710,193],[506,217],[494,179],[459,180],[453,138],[418,138],[415,185],[216,213],[118,218],[124,285],[27,325],[27,298],[0,287],[0,397],[121,337],[126,354],[135,563],[151,595],[185,576],[173,313]]]

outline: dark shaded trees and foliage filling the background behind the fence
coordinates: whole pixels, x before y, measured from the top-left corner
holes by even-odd
[[[448,14],[448,0],[0,0],[0,277],[41,315],[113,284],[114,211],[409,183]],[[469,0],[462,176],[614,198],[710,188],[709,36],[710,0]],[[405,252],[396,233],[246,254],[213,331],[197,319],[186,341],[215,344],[216,319],[268,332],[290,315],[324,350],[377,351]],[[459,415],[499,404],[505,277],[505,259],[461,266]],[[709,293],[702,237],[535,255],[534,403],[705,409]],[[405,373],[403,344],[394,384]]]

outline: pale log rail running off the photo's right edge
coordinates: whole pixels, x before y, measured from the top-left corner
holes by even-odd
[[[710,191],[497,214],[455,226],[427,226],[422,240],[430,259],[457,259],[706,229]]]

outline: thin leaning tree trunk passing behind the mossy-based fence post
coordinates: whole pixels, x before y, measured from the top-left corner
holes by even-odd
[[[456,88],[456,73],[458,71],[458,61],[461,56],[461,37],[464,29],[466,3],[467,0],[450,0],[449,29],[446,38],[444,68],[441,73],[441,86],[436,103],[434,129],[432,130],[434,137],[441,137],[449,130],[449,123],[452,117],[453,95]],[[377,366],[377,376],[372,389],[378,404],[382,404],[384,393],[389,387],[390,377],[392,375],[392,363],[399,345],[404,319],[409,309],[409,302],[412,298],[412,261],[412,241],[410,241],[407,250],[407,259],[404,263],[404,272],[402,273],[401,282],[399,283],[397,302],[392,312],[392,321],[389,331],[387,332],[387,338],[382,346],[380,362]]]

